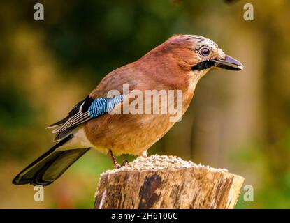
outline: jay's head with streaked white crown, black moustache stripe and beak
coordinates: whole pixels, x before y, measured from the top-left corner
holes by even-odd
[[[173,36],[158,50],[171,54],[182,70],[190,71],[199,78],[212,68],[226,70],[243,68],[242,63],[226,55],[215,42],[203,36]]]

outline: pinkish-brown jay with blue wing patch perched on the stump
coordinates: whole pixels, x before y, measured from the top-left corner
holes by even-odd
[[[189,107],[196,84],[212,68],[242,70],[243,66],[209,38],[174,35],[133,63],[109,72],[65,118],[48,126],[55,133],[55,146],[20,171],[13,184],[50,185],[91,148],[108,154],[115,169],[126,164],[126,160],[122,165],[117,163],[115,155],[146,156],[148,148],[177,121],[171,121],[172,114],[156,114],[152,108],[145,114],[131,113],[125,108],[126,103],[134,101],[130,94],[180,91],[180,119]],[[119,94],[111,96],[112,91]],[[173,105],[177,106],[175,99],[176,95]],[[145,100],[138,105],[149,104],[152,101]],[[159,103],[157,110],[162,108]]]

